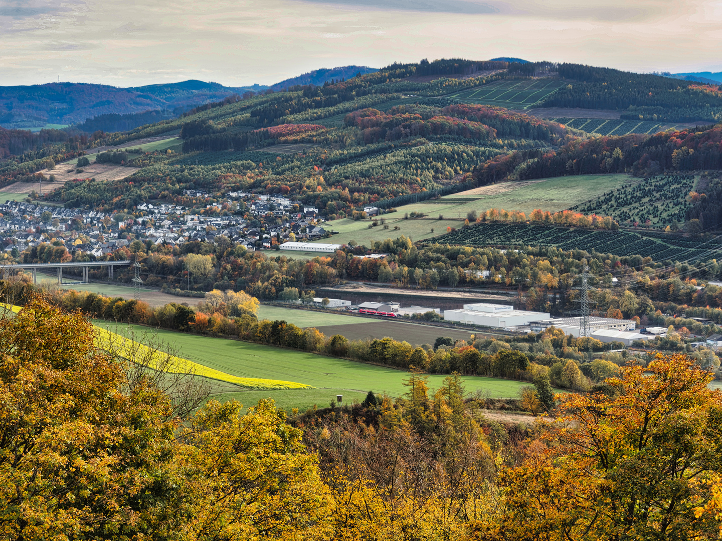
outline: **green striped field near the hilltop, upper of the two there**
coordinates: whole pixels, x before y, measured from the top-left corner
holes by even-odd
[[[456,94],[449,94],[462,103],[480,103],[484,105],[497,105],[510,109],[527,109],[535,103],[544,100],[549,94],[557,91],[564,85],[561,81],[549,79],[536,79],[534,81],[495,81],[484,84],[483,87],[464,90]]]

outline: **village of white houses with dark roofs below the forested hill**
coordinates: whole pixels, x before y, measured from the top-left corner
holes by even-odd
[[[186,191],[193,197],[207,195]],[[0,203],[1,249],[18,258],[27,248],[46,242],[64,245],[75,260],[103,260],[134,240],[179,246],[193,240],[214,242],[222,235],[248,250],[269,250],[284,242],[329,237],[317,208],[272,195],[231,192],[227,196],[228,203],[245,203],[242,216],[218,211],[217,205],[142,203],[126,214],[5,201]]]

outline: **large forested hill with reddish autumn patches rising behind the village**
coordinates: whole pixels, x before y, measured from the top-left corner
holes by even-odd
[[[67,182],[48,198],[68,207],[130,211],[149,200],[186,204],[184,190],[202,190],[208,203],[229,191],[252,190],[286,195],[333,219],[369,204],[400,206],[504,179],[722,169],[719,128],[598,138],[510,110],[576,99],[578,87],[588,85],[599,92],[581,99],[599,96],[597,106],[619,94],[617,107],[631,97],[643,102],[648,94],[679,94],[679,102],[659,99],[658,108],[677,115],[689,102],[709,100],[714,107],[705,107],[706,115],[720,114],[719,92],[674,79],[573,64],[461,59],[394,63],[341,79],[235,95],[123,133],[4,133],[0,143],[10,161],[0,169],[0,182],[27,178],[50,158],[57,162],[94,146],[132,149],[139,139],[179,136],[174,151],[104,154],[102,163],[139,170],[122,180]],[[612,98],[606,88],[615,91]],[[685,102],[687,95],[692,98]],[[497,106],[502,103],[507,107]],[[25,154],[18,157],[20,151]]]

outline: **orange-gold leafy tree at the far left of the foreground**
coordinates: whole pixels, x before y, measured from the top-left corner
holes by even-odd
[[[0,529],[8,539],[130,539],[175,483],[170,401],[93,343],[92,325],[34,299],[0,318]],[[161,511],[162,512],[162,511]],[[166,526],[172,516],[160,519]]]

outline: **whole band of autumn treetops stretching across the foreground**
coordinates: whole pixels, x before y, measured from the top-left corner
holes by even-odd
[[[131,375],[132,374],[132,377]],[[287,422],[182,415],[151,374],[42,298],[0,317],[0,531],[22,540],[718,539],[722,396],[684,356],[627,366],[504,428],[432,397]],[[530,418],[531,419],[531,418]]]

